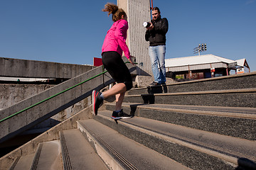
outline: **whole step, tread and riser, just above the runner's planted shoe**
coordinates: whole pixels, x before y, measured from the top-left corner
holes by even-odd
[[[105,103],[114,111],[115,103]],[[123,103],[125,113],[221,135],[256,140],[256,108]]]

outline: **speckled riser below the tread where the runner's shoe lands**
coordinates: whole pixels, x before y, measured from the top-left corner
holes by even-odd
[[[176,162],[188,166],[191,169],[235,169],[235,165],[232,166],[226,164],[210,154],[199,152],[174,142],[159,139],[159,137],[128,128],[120,123],[117,125],[114,121],[107,120],[100,116],[97,116],[95,119],[100,121],[100,123],[117,130],[120,134],[129,137],[150,149],[154,149],[156,152],[164,154],[166,157],[174,159]]]

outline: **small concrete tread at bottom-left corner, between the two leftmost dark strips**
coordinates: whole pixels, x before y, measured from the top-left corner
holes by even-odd
[[[31,165],[33,163],[33,157],[35,154],[28,154],[23,157],[17,157],[14,160],[14,163],[11,165],[9,170],[29,170],[31,169]]]

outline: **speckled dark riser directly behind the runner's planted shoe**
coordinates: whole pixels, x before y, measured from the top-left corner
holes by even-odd
[[[215,132],[221,135],[240,137],[247,140],[256,140],[256,120],[254,119],[161,111],[136,108],[135,106],[132,108],[130,106],[122,106],[122,108],[125,113],[143,118],[183,125],[189,128]],[[106,105],[106,109],[113,111],[114,106]]]

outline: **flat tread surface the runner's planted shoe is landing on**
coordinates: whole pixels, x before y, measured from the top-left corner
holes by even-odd
[[[100,111],[99,116],[111,119],[111,111]],[[219,135],[213,132],[196,130],[187,128],[181,125],[164,123],[159,120],[151,120],[147,118],[134,117],[127,120],[119,120],[119,123],[125,123],[135,129],[142,128],[144,131],[149,131],[159,137],[168,137],[168,140],[186,142],[196,147],[203,147],[228,154],[232,157],[247,157],[248,159],[256,160],[256,142],[241,139],[238,137],[230,137]]]

